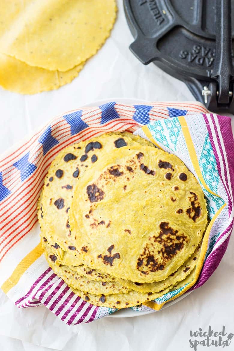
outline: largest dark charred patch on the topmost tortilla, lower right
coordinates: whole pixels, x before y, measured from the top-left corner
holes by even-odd
[[[136,267],[143,274],[163,270],[167,262],[182,250],[188,240],[184,234],[178,235],[178,230],[170,227],[168,222],[161,222],[159,227],[159,235],[149,238],[149,242],[146,243],[137,260]],[[154,251],[154,243],[161,245],[161,251],[158,251],[158,254]]]

